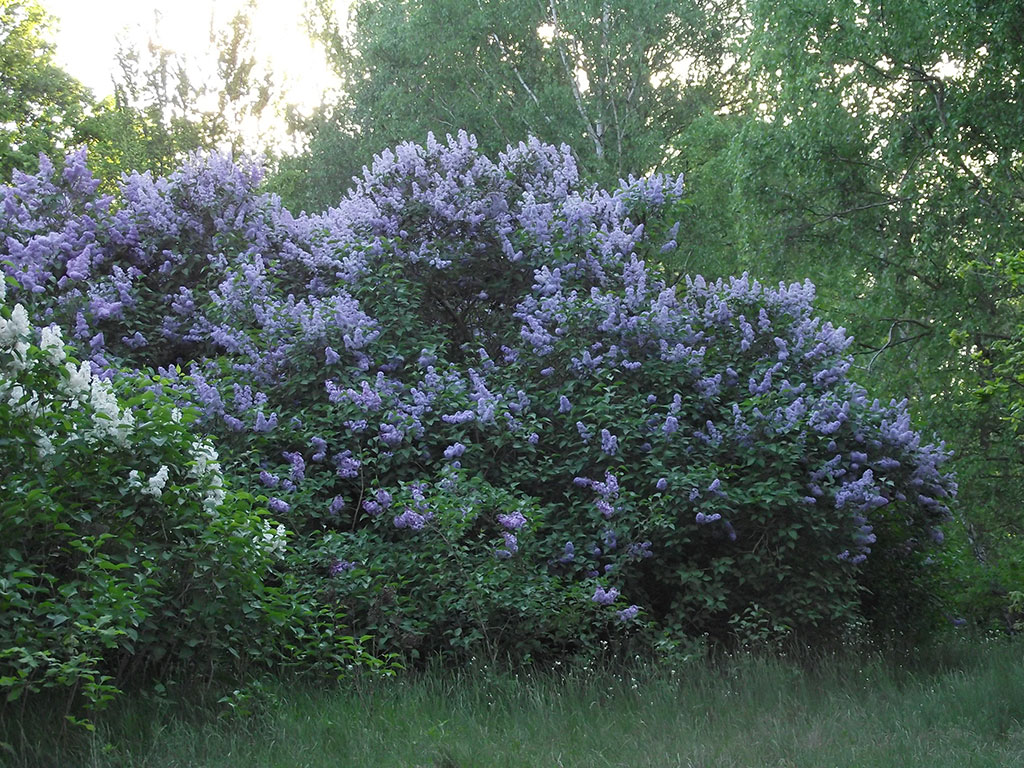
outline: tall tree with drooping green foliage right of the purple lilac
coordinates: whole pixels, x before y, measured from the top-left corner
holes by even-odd
[[[749,11],[751,119],[731,150],[743,258],[818,285],[866,375],[949,436],[970,543],[1006,561],[1024,500],[1007,376],[1022,321],[1024,5]]]

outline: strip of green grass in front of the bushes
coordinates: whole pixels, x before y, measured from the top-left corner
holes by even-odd
[[[44,713],[30,712],[19,732],[34,735],[7,765],[1002,768],[1024,765],[1020,651],[271,681],[206,703],[134,694],[100,713],[95,733],[66,739],[63,754],[53,724],[48,732]],[[11,739],[9,724],[0,739]]]

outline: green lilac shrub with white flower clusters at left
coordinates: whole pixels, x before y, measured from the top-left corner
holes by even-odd
[[[166,382],[112,383],[0,282],[0,690],[99,706],[133,678],[305,651],[315,605],[271,572],[287,531],[224,482]],[[351,644],[345,645],[345,663]],[[339,646],[340,648],[341,646]],[[337,651],[339,648],[335,648]],[[321,660],[323,656],[319,657]]]

